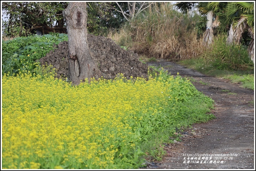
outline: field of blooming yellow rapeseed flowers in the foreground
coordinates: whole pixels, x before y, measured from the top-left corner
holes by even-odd
[[[53,76],[3,76],[2,167],[106,169],[138,159],[143,135],[159,125],[151,122],[177,101],[178,79],[161,79],[121,75],[74,87]]]

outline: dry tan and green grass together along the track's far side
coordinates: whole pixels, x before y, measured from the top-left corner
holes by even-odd
[[[165,58],[254,89],[254,63],[248,53],[251,33],[242,31],[241,43],[227,44],[228,30],[221,27],[214,31],[212,44],[203,46],[206,20],[205,15],[195,11],[183,14],[171,4],[155,4],[119,31],[110,32],[108,37],[133,49],[142,61]],[[237,77],[241,81],[234,79]]]

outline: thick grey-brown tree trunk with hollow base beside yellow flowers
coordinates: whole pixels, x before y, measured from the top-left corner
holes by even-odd
[[[72,84],[78,85],[80,80],[100,75],[100,70],[87,43],[87,11],[86,2],[70,2],[63,11],[68,32],[68,69]]]

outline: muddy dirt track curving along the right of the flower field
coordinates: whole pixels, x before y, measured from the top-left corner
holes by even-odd
[[[146,169],[254,169],[254,91],[209,77],[178,64],[160,60],[149,66],[161,66],[172,75],[191,78],[193,85],[211,97],[216,119],[194,124],[182,135],[181,142],[166,144],[161,162]]]

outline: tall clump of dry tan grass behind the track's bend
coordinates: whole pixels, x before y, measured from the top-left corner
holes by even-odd
[[[111,32],[108,38],[148,58],[189,59],[204,48],[196,30],[188,29],[195,22],[191,16],[173,10],[170,3],[162,3],[149,8],[119,32]]]

